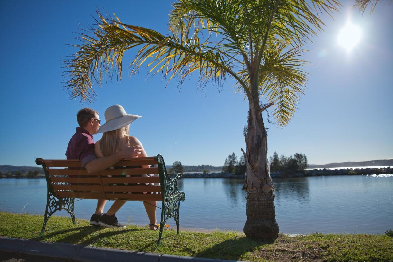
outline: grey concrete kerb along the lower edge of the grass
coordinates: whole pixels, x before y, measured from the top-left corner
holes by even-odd
[[[0,237],[0,251],[22,253],[33,256],[64,258],[58,261],[135,261],[135,262],[235,262],[213,258],[196,258],[191,256],[173,256],[149,252],[137,252],[63,243],[46,243],[34,240]],[[16,259],[16,258],[15,258]],[[10,260],[24,261],[24,260]],[[37,260],[39,261],[39,260]]]

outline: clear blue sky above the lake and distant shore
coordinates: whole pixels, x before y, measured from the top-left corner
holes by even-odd
[[[307,68],[309,83],[294,118],[283,129],[266,124],[269,156],[304,153],[310,164],[393,158],[393,7],[380,2],[373,14],[361,15],[351,12],[351,2],[342,4],[334,20],[324,17],[324,31],[305,46],[310,51],[304,59],[313,66]],[[176,81],[165,89],[160,76],[146,79],[143,69],[131,81],[124,77],[96,86],[93,104],[68,98],[61,59],[75,52],[66,44],[75,43],[73,32],[82,24],[94,23],[96,6],[127,24],[167,33],[171,1],[0,2],[0,164],[65,159],[78,109],[92,107],[104,120],[105,109],[114,104],[142,116],[130,134],[167,164],[220,166],[230,153],[240,156],[248,103],[234,94],[230,78],[222,88],[205,90],[191,78],[179,92]],[[351,54],[336,41],[348,17],[362,30]]]

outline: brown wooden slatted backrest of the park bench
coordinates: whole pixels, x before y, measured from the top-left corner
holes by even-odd
[[[165,164],[162,157],[123,160],[113,168],[88,173],[79,160],[44,160],[48,191],[58,197],[162,201]],[[143,165],[154,165],[142,168]],[[154,176],[153,176],[154,175]],[[161,184],[160,184],[161,183]]]

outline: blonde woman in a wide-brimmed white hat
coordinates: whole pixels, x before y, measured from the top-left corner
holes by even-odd
[[[133,114],[127,114],[121,105],[112,105],[105,111],[105,124],[101,125],[97,133],[103,133],[101,140],[94,145],[96,157],[107,157],[121,151],[125,144],[140,146],[140,157],[147,157],[145,149],[136,137],[129,136],[130,123],[140,118]],[[147,168],[150,166],[142,166]],[[120,208],[125,201],[116,200],[113,208]],[[147,216],[150,220],[150,229],[157,230],[156,206],[157,201],[143,201]],[[112,208],[111,207],[111,208]],[[108,210],[109,211],[109,210]]]

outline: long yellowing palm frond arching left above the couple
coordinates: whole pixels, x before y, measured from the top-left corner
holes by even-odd
[[[188,37],[191,23],[174,37],[121,23],[116,16],[115,20],[97,14],[97,28],[83,30],[77,37],[80,43],[73,45],[79,51],[63,62],[64,76],[68,78],[64,85],[71,98],[93,101],[93,83],[101,85],[104,76],[112,78],[115,73],[121,79],[123,54],[136,47],[140,49],[130,63],[131,73],[148,60],[149,73],[162,72],[169,80],[176,76],[180,83],[195,71],[199,73],[201,83],[209,80],[221,82],[226,74],[234,74],[232,68],[236,59],[233,56],[209,42],[200,43],[197,31],[193,38]]]

